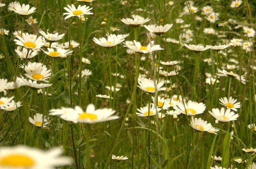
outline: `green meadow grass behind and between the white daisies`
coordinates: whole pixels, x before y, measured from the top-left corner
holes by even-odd
[[[0,7],[0,28],[10,31],[8,35],[3,31],[0,35],[0,78],[15,82],[16,78],[25,77],[24,69],[28,62],[38,62],[51,70],[48,82],[38,83],[52,86],[44,87],[42,93],[38,93],[38,89],[26,85],[8,89],[2,81],[0,96],[14,96],[15,102],[21,101],[22,106],[14,111],[4,110],[1,106],[1,147],[27,145],[47,150],[61,146],[64,155],[73,159],[72,165],[63,168],[72,169],[208,169],[215,165],[225,168],[254,168],[249,166],[255,162],[256,155],[242,149],[256,148],[255,32],[252,37],[244,32],[246,26],[255,30],[255,2],[243,0],[240,6],[231,8],[231,0],[195,0],[194,4],[186,0],[174,1],[174,4],[169,4],[167,0],[95,0],[92,3],[75,0],[20,0],[20,4],[30,4],[30,8],[36,8],[36,12],[25,16],[9,11],[10,2],[12,1],[2,0],[1,3],[6,6]],[[64,20],[66,15],[63,14],[67,12],[64,7],[71,4],[76,7],[79,4],[90,6],[93,14],[84,15],[86,21],[77,16]],[[216,22],[207,20],[211,13],[202,14],[202,8],[206,5],[211,6],[213,12],[218,12],[219,16],[214,14],[219,18]],[[198,9],[184,12],[184,8],[194,7]],[[144,25],[173,26],[162,35],[149,34],[143,26],[132,27],[121,22],[122,18],[132,18],[132,14],[149,18],[150,21]],[[36,18],[37,23],[29,25],[26,20],[30,16]],[[177,18],[184,22],[177,23]],[[119,30],[113,31],[110,27]],[[205,28],[212,28],[215,32],[209,34],[207,32],[210,31]],[[39,30],[58,32],[59,35],[65,34],[63,39],[57,41],[59,44],[74,40],[79,45],[69,47],[73,52],[65,58],[48,56],[42,51],[47,51],[47,47],[43,46],[35,57],[24,56],[26,59],[20,59],[14,51],[17,48],[14,40],[17,38],[13,33],[17,30],[37,36],[41,36]],[[93,38],[106,37],[107,33],[129,34],[125,40],[136,40],[143,46],[153,40],[154,44],[160,45],[164,50],[128,54],[128,48],[123,43],[105,48],[93,41]],[[169,38],[176,42],[170,42]],[[234,42],[233,38],[239,40]],[[220,52],[212,49],[194,52],[184,44],[230,46]],[[83,63],[83,57],[90,60],[90,64]],[[160,64],[160,61],[175,60],[179,62],[176,65]],[[216,73],[220,73],[217,68],[229,72],[228,76],[217,76]],[[82,76],[84,69],[90,70],[92,74]],[[162,76],[159,74],[160,70],[178,74]],[[115,73],[124,77],[113,76]],[[210,73],[219,82],[207,84],[205,73]],[[139,76],[151,78],[154,86],[164,80],[162,87],[166,89],[146,92],[137,87],[140,86],[138,79],[140,82],[143,79],[138,78]],[[241,82],[243,78],[245,84]],[[106,86],[117,84],[122,87],[114,87],[113,91],[106,89]],[[120,91],[117,91],[119,88]],[[99,94],[113,99],[96,97]],[[191,109],[181,110],[183,114],[178,117],[165,114],[167,110],[164,109],[156,111],[158,115],[165,114],[163,118],[158,118],[158,115],[150,116],[150,108],[146,117],[136,114],[140,107],[151,106],[151,103],[156,107],[158,103],[153,103],[152,97],[159,101],[158,96],[173,98],[175,103],[180,102],[179,107],[189,100],[204,103],[205,109],[203,113],[193,116],[186,115],[191,113]],[[221,105],[219,99],[230,96],[240,102],[237,111],[231,110],[239,117],[234,121],[216,123],[209,111],[221,107],[225,107],[226,111],[226,106]],[[52,109],[74,108],[76,105],[86,111],[90,103],[96,109],[115,110],[114,115],[119,118],[99,123],[77,123],[49,115]],[[174,107],[169,107],[168,111],[170,110],[174,110]],[[36,113],[48,118],[46,127],[36,127],[28,121]],[[194,129],[190,124],[192,117],[208,121],[219,131],[214,134]],[[251,128],[248,127],[250,124]],[[128,159],[114,160],[111,159],[112,155],[124,155]],[[212,159],[214,155],[222,157],[222,160]],[[238,163],[235,159],[246,161]]]

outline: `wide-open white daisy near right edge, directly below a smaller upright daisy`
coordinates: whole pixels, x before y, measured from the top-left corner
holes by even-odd
[[[218,121],[227,122],[227,121],[233,121],[238,118],[238,114],[235,114],[233,111],[230,111],[230,109],[224,109],[222,107],[221,109],[212,109],[212,111],[209,111],[209,113]]]

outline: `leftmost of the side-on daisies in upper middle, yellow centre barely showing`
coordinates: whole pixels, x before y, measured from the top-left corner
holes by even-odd
[[[100,45],[100,46],[103,46],[103,47],[106,47],[106,48],[110,48],[110,47],[113,47],[113,46],[116,46],[118,44],[120,44],[121,42],[124,41],[124,38],[126,38],[129,34],[126,34],[126,35],[113,35],[113,34],[110,34],[108,36],[108,38],[93,38],[93,41]]]

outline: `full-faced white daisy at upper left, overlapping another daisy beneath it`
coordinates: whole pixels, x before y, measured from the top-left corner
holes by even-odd
[[[28,49],[39,49],[44,45],[42,36],[37,37],[33,34],[22,33],[22,36],[16,36],[18,39],[14,39],[17,45],[24,46]]]

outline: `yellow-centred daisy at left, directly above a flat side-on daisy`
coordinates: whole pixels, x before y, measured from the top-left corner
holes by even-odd
[[[24,65],[20,65],[20,68],[24,68]],[[51,70],[47,70],[46,66],[37,62],[28,62],[28,65],[25,66],[25,71],[25,76],[35,81],[48,82],[47,79],[51,75]]]

